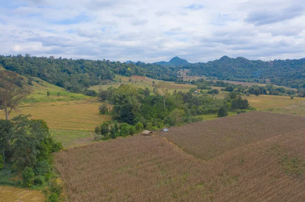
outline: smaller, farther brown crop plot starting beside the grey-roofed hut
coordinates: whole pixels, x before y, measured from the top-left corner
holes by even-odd
[[[173,127],[162,134],[184,151],[210,160],[225,151],[305,128],[305,117],[252,111],[209,122]]]

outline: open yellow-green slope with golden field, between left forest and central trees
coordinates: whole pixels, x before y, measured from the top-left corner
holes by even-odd
[[[31,114],[34,119],[44,119],[51,134],[63,145],[73,146],[93,141],[94,128],[110,115],[101,115],[97,98],[66,92],[65,89],[34,78],[33,93],[13,111],[10,117]],[[47,97],[47,91],[50,96]],[[60,93],[60,96],[57,96]],[[0,118],[5,118],[0,111]]]

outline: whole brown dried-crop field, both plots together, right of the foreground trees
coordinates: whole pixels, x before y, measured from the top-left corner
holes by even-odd
[[[69,148],[56,167],[70,201],[304,201],[304,120],[250,112],[170,129],[208,161],[137,135]]]

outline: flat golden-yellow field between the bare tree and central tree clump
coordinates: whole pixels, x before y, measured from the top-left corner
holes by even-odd
[[[19,107],[11,114],[32,114],[33,119],[43,119],[51,129],[94,131],[94,128],[110,115],[99,114],[100,102],[55,102],[38,103]],[[1,113],[4,118],[4,113]]]

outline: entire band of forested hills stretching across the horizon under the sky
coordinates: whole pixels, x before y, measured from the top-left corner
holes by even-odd
[[[187,75],[207,76],[221,80],[270,83],[291,88],[305,88],[305,60],[248,60],[222,57],[207,63],[189,63],[174,57],[169,62],[111,62],[109,60],[72,60],[54,57],[0,56],[0,65],[25,76],[40,77],[71,92],[83,92],[99,85],[102,80],[113,80],[115,75],[140,75],[178,82],[178,70],[189,69]]]

